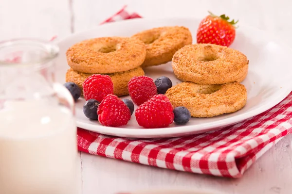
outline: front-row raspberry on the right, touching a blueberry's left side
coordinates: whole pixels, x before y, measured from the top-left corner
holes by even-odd
[[[136,120],[144,128],[168,127],[174,119],[173,107],[162,94],[155,95],[141,104],[135,112]]]

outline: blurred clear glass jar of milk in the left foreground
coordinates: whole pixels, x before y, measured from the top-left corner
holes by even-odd
[[[54,82],[58,47],[0,42],[0,194],[77,194],[70,92]]]

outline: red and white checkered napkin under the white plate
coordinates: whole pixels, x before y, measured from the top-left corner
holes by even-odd
[[[106,22],[135,17],[140,16],[124,7]],[[291,107],[292,93],[274,108],[236,125],[179,138],[129,139],[78,129],[78,149],[161,168],[239,178],[292,132]]]

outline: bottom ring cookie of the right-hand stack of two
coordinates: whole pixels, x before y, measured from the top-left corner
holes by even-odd
[[[234,113],[242,109],[247,100],[246,88],[238,82],[223,85],[183,82],[169,88],[165,95],[174,108],[184,106],[192,117]]]

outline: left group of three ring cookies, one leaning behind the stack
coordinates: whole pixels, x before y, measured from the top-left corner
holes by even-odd
[[[117,96],[128,95],[128,81],[145,75],[143,68],[170,62],[174,53],[192,43],[191,32],[180,26],[160,27],[131,37],[100,37],[74,44],[66,52],[70,66],[66,82],[83,82],[92,74],[109,75]]]

